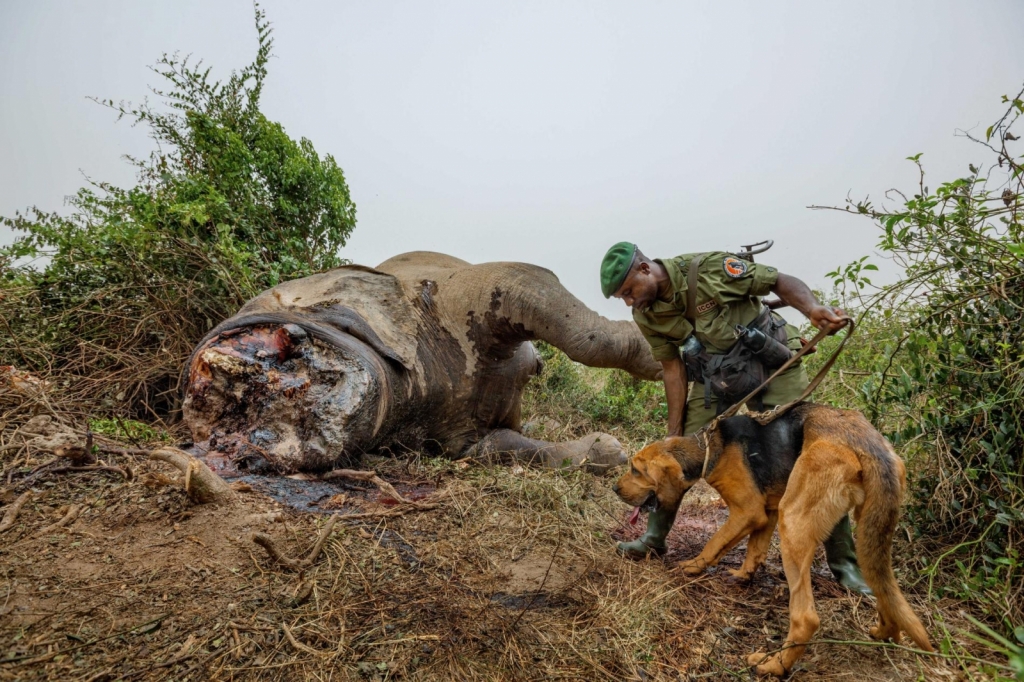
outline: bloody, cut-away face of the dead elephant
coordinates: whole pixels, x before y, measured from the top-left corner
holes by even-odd
[[[195,354],[183,411],[222,469],[317,471],[356,459],[374,439],[386,384],[379,358],[355,339],[327,344],[297,325],[256,326]]]

